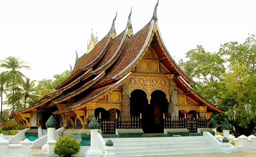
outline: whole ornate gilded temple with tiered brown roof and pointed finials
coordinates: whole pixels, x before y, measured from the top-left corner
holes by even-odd
[[[10,118],[22,128],[46,129],[53,115],[59,127],[76,130],[87,129],[96,117],[102,134],[117,134],[118,129],[164,134],[171,128],[194,133],[207,127],[212,114],[224,111],[190,86],[193,80],[171,57],[158,27],[157,5],[152,19],[135,34],[131,12],[121,33],[116,33],[115,17],[99,42],[92,34],[70,77]]]

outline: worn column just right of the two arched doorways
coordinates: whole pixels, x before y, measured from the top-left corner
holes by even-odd
[[[168,82],[169,82],[169,106],[168,106],[168,112],[169,115],[172,115],[172,117],[179,117],[179,109],[178,109],[178,94],[177,94],[177,84],[175,81],[173,81],[174,74],[168,74],[166,75]]]

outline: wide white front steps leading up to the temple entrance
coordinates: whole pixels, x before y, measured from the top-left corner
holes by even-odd
[[[104,138],[107,141],[107,138]],[[116,157],[220,152],[205,136],[111,138]]]

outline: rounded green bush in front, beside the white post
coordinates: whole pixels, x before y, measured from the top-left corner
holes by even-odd
[[[70,157],[77,154],[80,150],[80,144],[69,136],[60,137],[54,147],[54,153],[58,156]]]

